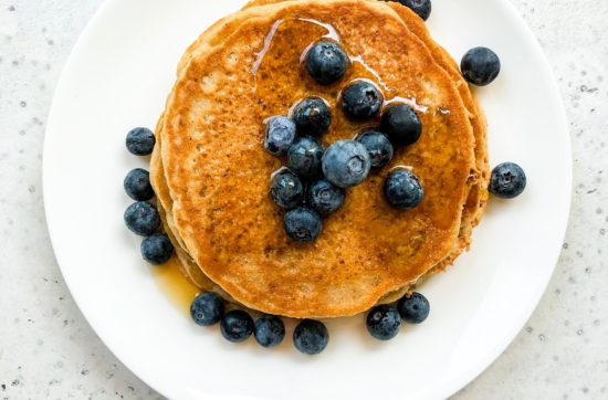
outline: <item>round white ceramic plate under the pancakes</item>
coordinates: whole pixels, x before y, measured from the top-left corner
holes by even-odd
[[[328,323],[331,343],[305,357],[232,345],[199,328],[159,291],[123,223],[125,173],[146,166],[125,150],[154,127],[186,46],[244,1],[107,0],[57,86],[44,151],[44,199],[55,253],[83,314],[107,347],[172,399],[438,399],[485,369],[536,306],[554,270],[570,199],[565,114],[541,48],[506,0],[433,0],[432,34],[452,55],[475,45],[503,70],[479,90],[491,164],[513,160],[526,192],[492,200],[471,253],[422,291],[429,319],[390,343],[363,316]]]

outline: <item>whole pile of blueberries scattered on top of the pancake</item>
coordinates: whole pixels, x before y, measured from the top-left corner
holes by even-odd
[[[348,65],[342,45],[328,40],[315,43],[305,60],[308,74],[322,85],[339,81]],[[367,80],[349,83],[340,98],[342,112],[352,120],[367,120],[382,110],[382,93]],[[270,194],[286,210],[283,228],[297,242],[315,240],[323,230],[322,217],[344,204],[346,189],[361,183],[373,168],[388,165],[394,146],[411,145],[422,131],[416,110],[402,103],[384,110],[378,129],[337,140],[325,149],[319,137],[331,125],[329,104],[315,96],[298,102],[290,116],[265,120],[264,148],[286,159],[286,167],[272,175]],[[418,177],[409,169],[389,172],[384,191],[387,201],[399,209],[411,209],[424,197]]]

